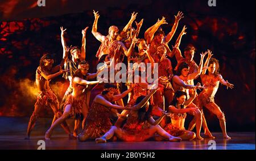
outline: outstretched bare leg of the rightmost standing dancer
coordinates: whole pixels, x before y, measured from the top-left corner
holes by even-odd
[[[226,119],[224,113],[221,111],[220,107],[214,102],[210,102],[207,105],[205,105],[207,109],[209,109],[210,112],[214,113],[218,117],[218,120],[220,120],[220,127],[222,130],[223,137],[225,139],[231,139],[228,134],[226,133]]]

